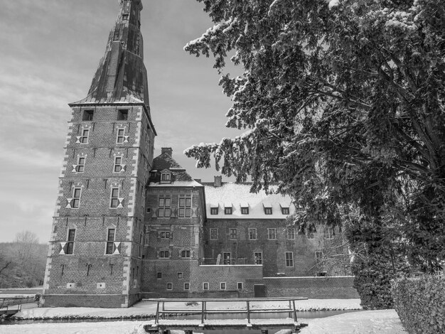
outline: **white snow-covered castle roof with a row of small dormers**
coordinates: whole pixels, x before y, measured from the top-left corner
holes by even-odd
[[[249,184],[223,183],[220,187],[203,184],[208,219],[284,219],[287,215],[282,214],[281,208],[289,208],[290,214],[295,211],[289,196],[267,195],[264,190],[250,193]],[[289,204],[284,206],[286,203]],[[227,207],[232,207],[232,215],[225,215]],[[220,208],[218,215],[211,215],[210,208]],[[242,215],[241,208],[249,208],[249,214]],[[272,215],[266,215],[264,208],[272,208]]]

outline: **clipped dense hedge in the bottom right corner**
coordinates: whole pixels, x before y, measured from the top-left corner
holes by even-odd
[[[410,334],[445,333],[445,277],[392,282],[395,311]]]

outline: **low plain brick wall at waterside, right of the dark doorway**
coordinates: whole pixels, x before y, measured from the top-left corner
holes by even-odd
[[[353,276],[264,278],[267,297],[360,298]]]

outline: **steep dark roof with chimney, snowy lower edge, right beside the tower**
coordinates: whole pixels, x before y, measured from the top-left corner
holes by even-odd
[[[161,155],[156,156],[153,161],[153,169],[149,179],[150,186],[202,186],[194,181],[186,172],[186,169],[172,157],[173,149],[163,147],[161,152]],[[161,182],[161,174],[167,171],[171,173],[171,182]]]

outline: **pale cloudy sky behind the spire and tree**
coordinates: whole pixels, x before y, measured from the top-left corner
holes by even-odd
[[[142,0],[156,152],[173,156],[194,178],[210,181],[183,150],[219,142],[230,99],[213,60],[183,51],[212,23],[195,0]],[[16,232],[50,237],[68,130],[68,103],[86,97],[119,12],[117,0],[2,1],[0,11],[0,242]]]

